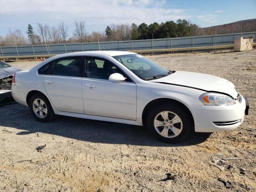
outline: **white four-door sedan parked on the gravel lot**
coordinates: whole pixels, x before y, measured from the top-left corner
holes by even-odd
[[[237,128],[248,101],[231,82],[212,75],[170,71],[131,52],[61,54],[13,77],[12,96],[34,118],[55,114],[147,126],[176,143],[191,131]]]

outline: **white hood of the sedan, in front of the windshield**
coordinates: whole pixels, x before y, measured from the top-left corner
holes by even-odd
[[[176,71],[168,76],[151,80],[151,82],[187,86],[208,92],[221,92],[228,94],[233,98],[236,98],[238,94],[232,82],[220,77],[202,73]]]

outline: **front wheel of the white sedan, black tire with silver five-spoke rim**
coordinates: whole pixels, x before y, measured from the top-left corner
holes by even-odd
[[[151,134],[164,143],[174,144],[185,140],[192,128],[189,114],[172,103],[151,109],[147,123]]]

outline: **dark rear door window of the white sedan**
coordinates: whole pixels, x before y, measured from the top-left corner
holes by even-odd
[[[56,59],[52,66],[52,75],[80,77],[82,57],[66,57]]]

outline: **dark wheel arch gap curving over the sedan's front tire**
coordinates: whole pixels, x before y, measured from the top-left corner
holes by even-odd
[[[188,114],[191,122],[192,122],[192,128],[194,130],[194,118],[193,118],[193,115],[192,115],[191,111],[182,102],[180,102],[178,100],[175,100],[175,99],[171,99],[171,98],[157,98],[157,99],[154,99],[154,100],[150,101],[145,106],[145,108],[144,108],[144,110],[142,112],[142,124],[143,124],[143,126],[146,125],[147,115],[148,115],[148,113],[150,111],[150,108],[154,108],[155,106],[157,106],[159,104],[162,104],[162,103],[166,103],[166,102],[176,104],[176,105],[180,106],[182,109],[184,109],[186,111],[186,113]]]

